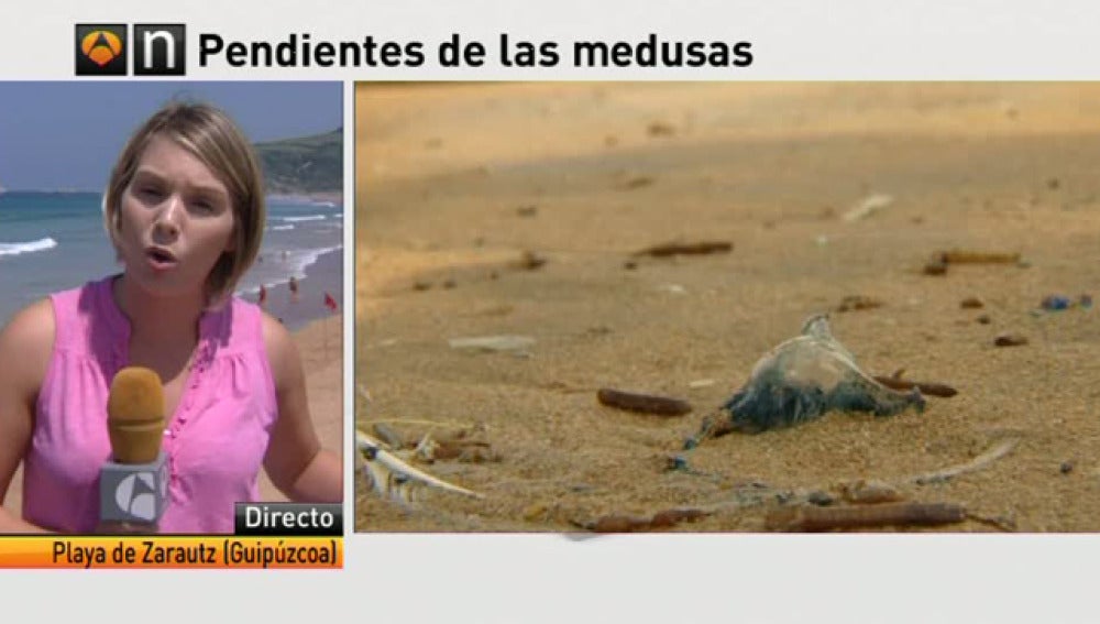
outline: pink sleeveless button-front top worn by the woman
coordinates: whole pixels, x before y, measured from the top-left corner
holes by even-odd
[[[107,396],[130,343],[112,281],[51,296],[56,338],[23,469],[23,517],[47,529],[90,533],[99,524],[99,472],[111,457]],[[161,533],[233,532],[233,503],[258,499],[277,414],[260,308],[233,297],[202,315],[186,386],[167,416]]]

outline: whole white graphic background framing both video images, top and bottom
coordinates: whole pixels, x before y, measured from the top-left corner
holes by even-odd
[[[352,193],[351,80],[751,79],[1049,80],[1100,78],[1100,6],[1002,1],[267,0],[0,4],[0,79],[76,79],[77,22],[186,23],[194,79],[344,79],[345,189]],[[943,3],[946,4],[946,3]],[[196,39],[422,41],[408,68],[197,67]],[[752,42],[748,68],[441,68],[451,33],[493,51],[515,39]],[[495,58],[493,54],[490,59]],[[3,102],[0,102],[3,106]],[[89,106],[95,106],[89,102]],[[2,138],[0,138],[2,141]],[[346,211],[345,249],[354,210]],[[1100,242],[1098,242],[1100,244]],[[352,281],[345,262],[345,283]],[[345,288],[345,309],[353,309]],[[344,315],[345,331],[352,315]],[[345,388],[353,387],[351,344]],[[349,403],[350,405],[350,403]],[[345,427],[351,440],[351,425]],[[351,457],[351,449],[348,449]],[[352,500],[350,479],[346,499]],[[352,524],[349,513],[349,524]],[[0,622],[1094,622],[1097,535],[351,535],[342,571],[6,571]]]

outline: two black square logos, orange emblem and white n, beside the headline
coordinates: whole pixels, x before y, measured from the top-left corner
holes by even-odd
[[[127,24],[77,24],[76,75],[125,76],[131,47],[134,76],[187,73],[184,24],[134,24],[132,45],[127,34]]]

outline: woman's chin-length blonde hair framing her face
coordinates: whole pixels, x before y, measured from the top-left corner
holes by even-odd
[[[232,295],[255,262],[263,241],[266,207],[263,173],[244,133],[221,110],[205,103],[170,102],[130,136],[103,197],[103,223],[118,251],[119,207],[145,147],[155,136],[170,139],[202,162],[226,185],[233,209],[233,251],[222,253],[206,281],[208,306]]]

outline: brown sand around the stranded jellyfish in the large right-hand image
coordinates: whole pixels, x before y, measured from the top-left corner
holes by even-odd
[[[645,529],[760,532],[807,499],[849,506],[860,480],[967,511],[875,530],[1100,529],[1100,310],[1081,305],[1100,285],[1098,111],[1096,84],[361,85],[356,424],[487,450],[418,464],[483,499],[400,505],[358,478],[356,529],[696,510]],[[707,241],[732,249],[637,254]],[[948,250],[1012,260],[927,274]],[[1052,295],[1068,309],[1042,309]],[[724,436],[669,470],[816,313],[868,374],[957,394]],[[449,343],[486,336],[529,341]],[[608,407],[602,387],[692,410]]]

